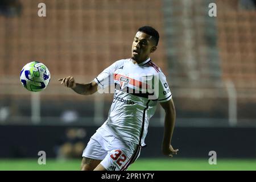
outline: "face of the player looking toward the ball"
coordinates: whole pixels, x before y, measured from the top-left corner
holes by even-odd
[[[131,58],[141,63],[150,57],[150,53],[156,50],[155,42],[151,35],[144,32],[137,32],[131,47]]]

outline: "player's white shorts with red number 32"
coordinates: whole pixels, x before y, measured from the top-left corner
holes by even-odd
[[[100,127],[90,138],[82,156],[102,160],[101,165],[108,171],[125,171],[140,153],[139,144],[118,139]]]

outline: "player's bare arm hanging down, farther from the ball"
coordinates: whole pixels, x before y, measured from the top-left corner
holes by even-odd
[[[160,102],[160,105],[163,107],[164,111],[166,111],[166,116],[164,118],[164,137],[162,151],[164,155],[172,157],[172,155],[177,154],[177,151],[179,151],[178,149],[174,150],[171,145],[176,118],[174,101],[171,99],[167,102]]]

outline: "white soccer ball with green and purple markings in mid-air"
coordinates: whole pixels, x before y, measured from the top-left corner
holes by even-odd
[[[24,88],[32,92],[44,90],[50,79],[51,75],[48,68],[38,61],[32,61],[24,65],[20,72],[20,82],[22,82]]]

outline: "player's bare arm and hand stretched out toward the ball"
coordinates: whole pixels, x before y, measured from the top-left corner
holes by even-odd
[[[65,78],[60,78],[58,81],[61,81],[61,85],[64,84],[64,86],[71,88],[78,94],[90,95],[97,92],[98,85],[94,80],[87,84],[79,84],[75,81],[75,78],[68,76]]]

